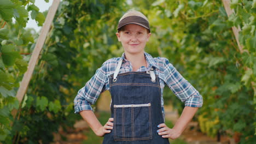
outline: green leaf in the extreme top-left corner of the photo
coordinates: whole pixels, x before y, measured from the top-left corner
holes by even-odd
[[[5,21],[10,21],[13,17],[13,8],[15,5],[9,0],[1,0],[0,3],[0,16]]]

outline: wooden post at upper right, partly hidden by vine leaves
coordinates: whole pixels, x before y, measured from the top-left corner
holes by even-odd
[[[226,14],[228,14],[228,17],[232,14],[232,13],[235,13],[234,10],[232,10],[230,8],[230,0],[222,0],[223,4],[224,4],[224,8],[226,10]],[[243,50],[243,46],[239,43],[239,40],[238,40],[238,34],[239,32],[241,31],[241,28],[240,26],[238,26],[237,28],[234,26],[232,27],[232,30],[233,30],[233,33],[235,35],[235,38],[236,38],[236,43],[239,47],[239,50],[241,53],[243,53],[245,50]]]

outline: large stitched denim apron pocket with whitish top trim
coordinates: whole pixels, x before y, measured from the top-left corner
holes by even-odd
[[[114,140],[152,139],[151,104],[114,105]]]

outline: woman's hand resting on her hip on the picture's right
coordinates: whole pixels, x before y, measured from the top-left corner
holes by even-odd
[[[177,139],[181,133],[176,129],[170,129],[166,126],[165,123],[161,123],[158,125],[158,134],[161,135],[163,138],[170,138],[172,140]]]

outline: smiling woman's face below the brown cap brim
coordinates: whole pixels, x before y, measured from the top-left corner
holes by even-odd
[[[144,47],[151,35],[148,30],[142,26],[129,24],[124,26],[124,31],[119,31],[117,34],[118,41],[121,41],[125,53],[135,55],[144,53]]]

